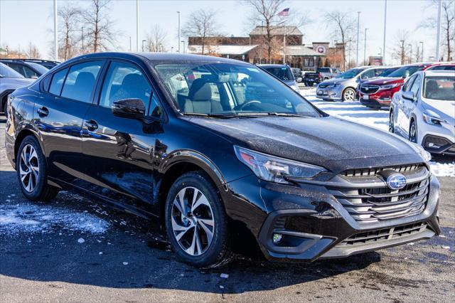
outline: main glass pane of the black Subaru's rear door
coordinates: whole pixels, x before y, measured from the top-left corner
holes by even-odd
[[[90,103],[90,96],[102,64],[102,61],[90,61],[73,65],[66,77],[61,96]]]

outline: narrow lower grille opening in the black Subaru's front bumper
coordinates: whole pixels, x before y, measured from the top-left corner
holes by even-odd
[[[351,235],[349,238],[341,241],[337,247],[352,247],[354,245],[364,245],[370,243],[378,243],[381,241],[387,241],[397,238],[402,238],[407,235],[413,235],[415,233],[422,233],[429,227],[427,223],[412,223],[407,225],[401,225],[394,228],[384,228],[380,230],[371,230],[364,233],[356,233]]]

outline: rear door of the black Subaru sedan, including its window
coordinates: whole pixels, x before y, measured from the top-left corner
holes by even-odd
[[[88,61],[57,70],[36,98],[33,121],[41,132],[48,174],[70,184],[81,178],[82,120],[103,64]]]

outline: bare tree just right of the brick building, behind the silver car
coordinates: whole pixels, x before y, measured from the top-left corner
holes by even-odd
[[[346,70],[346,43],[353,42],[354,19],[349,12],[331,11],[324,16],[326,26],[332,29],[332,38],[343,43],[343,70]]]

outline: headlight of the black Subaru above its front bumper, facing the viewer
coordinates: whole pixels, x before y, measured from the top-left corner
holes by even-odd
[[[237,158],[262,180],[290,184],[286,177],[311,179],[322,171],[320,166],[282,159],[242,147],[234,147]]]

